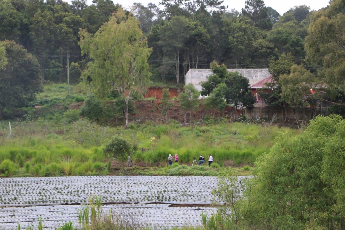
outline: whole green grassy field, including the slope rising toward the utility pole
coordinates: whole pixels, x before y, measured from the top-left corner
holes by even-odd
[[[221,123],[210,119],[208,124],[182,126],[155,122],[131,123],[129,129],[108,125],[114,114],[105,110],[101,120],[91,122],[80,118],[78,104],[87,90],[79,84],[49,84],[37,95],[31,106],[7,113],[0,121],[0,176],[61,176],[61,175],[206,175],[215,176],[232,170],[250,174],[255,159],[268,152],[280,134],[294,136],[297,129],[278,128],[259,124]],[[105,102],[105,108],[107,107]],[[35,109],[33,106],[40,105]],[[20,117],[20,118],[18,118]],[[12,123],[9,136],[8,121]],[[114,137],[128,141],[134,168],[123,169],[127,156],[114,158],[103,152],[103,147]],[[178,167],[166,167],[168,155],[178,154]],[[193,157],[209,154],[214,158],[212,168],[188,167]],[[207,162],[205,162],[207,164]],[[225,169],[224,167],[232,167]],[[118,169],[120,168],[120,169]],[[174,170],[171,170],[174,168]],[[236,168],[236,169],[234,169]]]

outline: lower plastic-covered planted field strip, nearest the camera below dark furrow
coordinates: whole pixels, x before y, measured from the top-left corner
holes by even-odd
[[[0,229],[16,229],[18,223],[21,228],[29,225],[36,228],[38,218],[42,217],[43,227],[55,229],[62,223],[71,221],[78,226],[78,212],[81,206],[39,206],[39,207],[6,207],[0,211]],[[115,213],[130,214],[143,225],[154,228],[168,228],[171,226],[200,225],[200,214],[210,213],[214,208],[168,207],[167,204],[145,205],[103,205],[103,212],[109,209]]]

